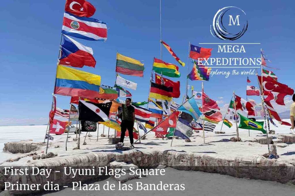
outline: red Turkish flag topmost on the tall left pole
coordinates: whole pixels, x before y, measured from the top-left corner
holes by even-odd
[[[90,17],[96,9],[85,0],[66,0],[65,11],[80,17]]]

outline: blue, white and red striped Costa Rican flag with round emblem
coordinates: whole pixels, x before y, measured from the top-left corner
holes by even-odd
[[[65,12],[61,33],[91,41],[106,41],[106,23],[94,18],[79,17]]]

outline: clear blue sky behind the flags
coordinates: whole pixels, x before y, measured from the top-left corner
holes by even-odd
[[[116,52],[145,63],[144,77],[123,76],[138,83],[130,90],[134,101],[146,101],[153,57],[160,58],[159,1],[94,1],[93,18],[107,23],[106,42],[76,41],[92,47],[96,68],[84,66],[101,76],[102,84],[112,86],[115,81]],[[0,125],[26,125],[47,123],[55,80],[56,62],[60,43],[65,1],[3,1],[1,3],[1,89]],[[216,45],[199,43],[228,43],[214,38],[210,24],[218,9],[237,6],[245,11],[249,23],[246,33],[237,43],[261,43],[245,46],[245,54],[220,54]],[[188,43],[213,48],[211,57],[259,57],[260,48],[272,60],[270,66],[281,83],[295,88],[293,1],[168,1],[162,0],[162,39],[187,64]],[[232,41],[233,42],[233,41]],[[233,42],[234,43],[234,42]],[[185,93],[186,67],[181,67],[163,48],[163,60],[175,63],[181,72],[181,97]],[[189,70],[192,64],[189,63]],[[213,69],[214,71],[215,69]],[[222,69],[231,71],[232,69]],[[243,70],[243,69],[240,69]],[[245,70],[250,70],[246,69]],[[213,76],[204,82],[205,92],[218,100],[220,107],[229,103],[232,91],[245,98],[247,76]],[[170,78],[171,79],[171,78]],[[174,81],[177,78],[172,78]],[[257,86],[255,76],[249,76],[251,85]],[[200,81],[189,81],[196,91]],[[222,97],[222,98],[221,98]],[[252,96],[253,98],[253,96]],[[286,99],[290,100],[290,96]],[[69,108],[70,97],[58,96],[57,106]],[[258,101],[257,98],[255,100]],[[284,106],[281,106],[284,107]]]

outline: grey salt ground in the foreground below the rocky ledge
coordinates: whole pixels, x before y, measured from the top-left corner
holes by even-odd
[[[133,190],[118,190],[118,182],[112,179],[106,179],[99,182],[92,182],[99,184],[102,187],[109,181],[111,184],[116,185],[116,189],[111,191],[105,190],[72,190],[72,187],[65,188],[58,192],[44,194],[44,195],[198,195],[198,196],[272,196],[284,195],[293,196],[295,187],[294,185],[281,184],[278,182],[263,181],[263,180],[247,180],[243,178],[235,178],[227,175],[205,173],[198,171],[180,171],[173,168],[166,168],[164,176],[147,176],[141,179],[130,180],[125,184],[132,184]],[[137,187],[136,182],[142,184],[159,184],[160,181],[167,184],[184,184],[185,190],[135,190]]]

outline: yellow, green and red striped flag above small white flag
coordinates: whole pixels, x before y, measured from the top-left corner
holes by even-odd
[[[116,72],[130,76],[143,77],[143,63],[117,53]]]

